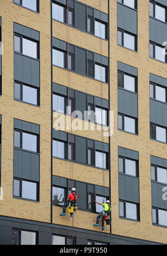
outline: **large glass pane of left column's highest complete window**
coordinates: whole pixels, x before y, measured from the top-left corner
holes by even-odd
[[[37,59],[37,43],[23,38],[23,54]]]

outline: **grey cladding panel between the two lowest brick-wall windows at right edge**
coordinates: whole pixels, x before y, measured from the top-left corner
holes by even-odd
[[[151,182],[152,206],[167,210],[167,200],[163,200],[164,187],[166,186],[163,184]]]

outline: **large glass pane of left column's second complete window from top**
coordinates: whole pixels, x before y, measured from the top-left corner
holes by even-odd
[[[23,85],[23,101],[37,105],[37,89]]]

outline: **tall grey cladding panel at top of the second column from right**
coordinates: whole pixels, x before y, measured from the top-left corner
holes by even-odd
[[[137,12],[117,3],[117,27],[137,35]]]

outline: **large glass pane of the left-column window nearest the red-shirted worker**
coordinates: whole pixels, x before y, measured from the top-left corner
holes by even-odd
[[[22,197],[37,200],[37,183],[22,181]]]

